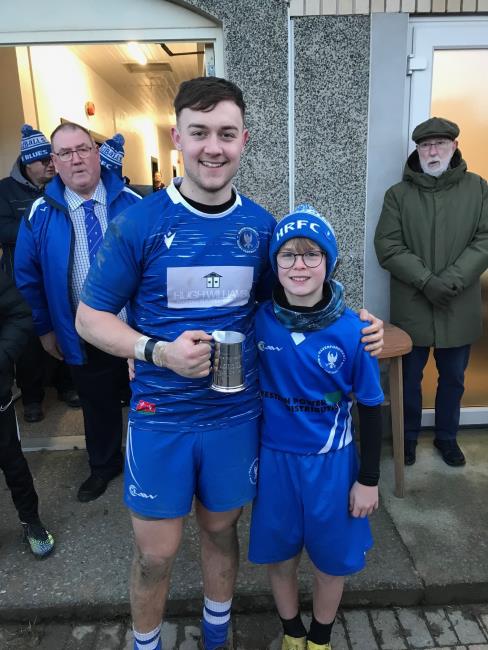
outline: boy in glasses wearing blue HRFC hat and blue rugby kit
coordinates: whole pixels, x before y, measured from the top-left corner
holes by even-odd
[[[270,260],[280,285],[255,319],[263,423],[249,559],[269,565],[282,650],[330,650],[344,576],[364,567],[372,546],[366,516],[378,507],[383,392],[378,363],[361,344],[362,323],[332,279],[330,224],[298,207],[276,226]],[[308,634],[298,602],[303,547],[314,565]]]

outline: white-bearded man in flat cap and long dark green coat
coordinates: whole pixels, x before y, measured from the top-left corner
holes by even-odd
[[[391,273],[391,321],[413,342],[403,358],[406,465],[416,460],[430,348],[439,374],[434,446],[448,465],[466,462],[456,436],[470,345],[481,335],[488,187],[467,171],[458,135],[457,124],[439,117],[414,129],[416,149],[402,182],[385,194],[375,235],[379,263]]]

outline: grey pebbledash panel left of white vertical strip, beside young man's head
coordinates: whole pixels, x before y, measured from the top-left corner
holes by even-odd
[[[288,208],[287,6],[187,0],[222,23],[226,76],[243,90],[251,139],[236,184],[275,216]]]

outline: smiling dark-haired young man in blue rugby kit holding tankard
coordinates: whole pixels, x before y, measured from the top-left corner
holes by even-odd
[[[125,485],[136,539],[135,648],[161,648],[171,567],[195,496],[202,645],[214,650],[226,647],[236,524],[256,490],[261,406],[253,316],[257,297],[270,290],[275,221],[232,185],[249,137],[240,89],[225,79],[193,79],[181,85],[175,110],[172,136],[185,176],[110,227],[77,328],[103,350],[136,360]],[[113,318],[127,301],[131,327]],[[366,333],[379,332],[373,338],[381,341],[381,326]],[[242,392],[210,389],[215,330],[246,335]]]

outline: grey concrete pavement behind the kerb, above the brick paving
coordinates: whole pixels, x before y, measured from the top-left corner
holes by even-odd
[[[44,428],[43,435],[47,434]],[[416,465],[406,468],[404,499],[393,496],[391,449],[385,445],[382,505],[371,519],[375,547],[368,555],[367,568],[348,579],[345,606],[488,602],[486,431],[463,432],[460,442],[468,463],[453,469],[442,462],[428,435],[421,440]],[[28,460],[41,514],[57,547],[42,562],[29,554],[21,543],[16,513],[1,476],[0,620],[86,621],[127,615],[132,533],[122,504],[122,477],[97,501],[80,504],[76,491],[88,474],[85,451],[38,451],[29,453]],[[236,613],[242,614],[272,609],[265,571],[246,560],[248,526],[246,508],[239,527],[241,570],[234,600]],[[173,574],[170,616],[199,615],[198,560],[198,534],[190,516]],[[309,607],[311,581],[306,560],[300,587],[304,607]],[[391,620],[389,626],[384,622],[384,628],[385,636],[394,634]]]

